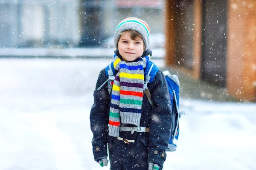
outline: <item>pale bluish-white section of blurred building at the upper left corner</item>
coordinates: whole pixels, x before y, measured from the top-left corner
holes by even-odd
[[[79,42],[79,0],[1,0],[0,47]]]

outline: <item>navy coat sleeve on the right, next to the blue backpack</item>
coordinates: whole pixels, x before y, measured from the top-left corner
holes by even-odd
[[[166,79],[158,71],[154,81],[148,85],[154,107],[149,123],[148,163],[163,166],[166,160],[166,149],[171,136],[172,110]]]

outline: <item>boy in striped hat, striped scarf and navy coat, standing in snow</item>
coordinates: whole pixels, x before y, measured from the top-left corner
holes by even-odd
[[[144,95],[144,69],[151,57],[149,27],[138,18],[126,18],[114,35],[116,70],[111,94],[105,69],[99,73],[90,112],[93,155],[111,170],[161,170],[170,138],[172,111],[166,80],[158,71],[148,84],[153,107]],[[142,129],[142,130],[139,130]]]

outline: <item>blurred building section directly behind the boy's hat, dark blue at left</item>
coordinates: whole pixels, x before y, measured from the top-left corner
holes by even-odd
[[[81,0],[81,46],[101,46],[127,17],[150,23],[151,33],[164,31],[164,0]]]

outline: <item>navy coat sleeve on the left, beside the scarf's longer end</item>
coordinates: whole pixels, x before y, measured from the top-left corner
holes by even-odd
[[[109,102],[110,95],[108,93],[108,83],[100,90],[97,90],[108,77],[105,74],[105,69],[99,73],[96,83],[96,88],[93,93],[94,104],[90,111],[90,127],[93,132],[93,155],[97,160],[102,157],[107,157],[107,142],[108,142],[108,123],[109,123]]]

